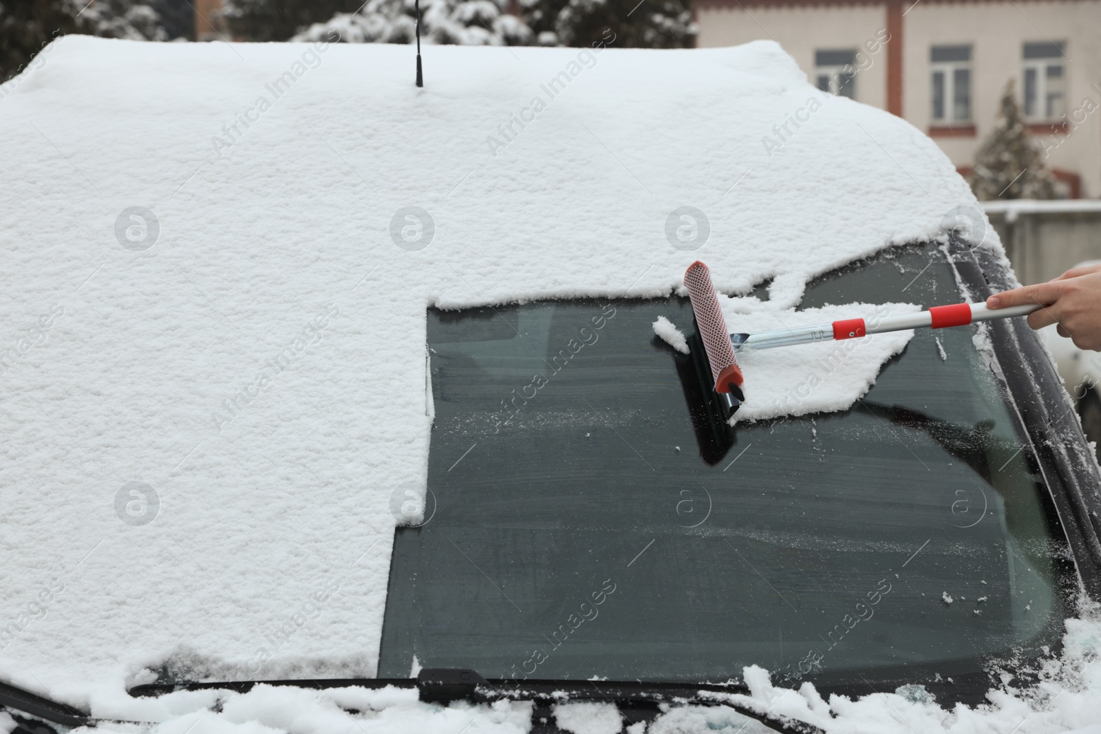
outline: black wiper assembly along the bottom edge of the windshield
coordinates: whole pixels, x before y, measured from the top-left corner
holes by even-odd
[[[749,695],[744,686],[711,683],[644,683],[608,680],[523,680],[486,679],[469,668],[425,668],[416,678],[319,678],[299,680],[204,681],[182,683],[146,683],[130,689],[131,695],[162,695],[179,690],[218,689],[247,693],[257,684],[294,686],[299,688],[416,688],[426,703],[471,703],[494,701],[532,701],[536,708],[548,708],[564,701],[612,703],[620,710],[656,716],[662,704],[724,705],[754,719],[782,734],[824,734],[822,730],[791,716],[772,713],[764,704],[739,701]],[[536,717],[533,712],[533,719]]]

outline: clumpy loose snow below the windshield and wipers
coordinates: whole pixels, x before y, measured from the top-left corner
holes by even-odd
[[[1101,616],[1095,605],[1082,620],[1068,620],[1064,654],[1043,661],[1038,684],[1021,690],[1006,684],[988,694],[979,709],[937,705],[924,688],[907,686],[894,693],[874,693],[858,700],[824,698],[806,682],[798,689],[773,686],[767,671],[743,670],[750,693],[710,694],[713,706],[672,706],[647,725],[632,724],[628,734],[765,734],[773,730],[746,719],[723,702],[809,722],[828,734],[990,734],[991,732],[1101,734]],[[1007,677],[1006,680],[1012,680]],[[709,695],[704,693],[702,695]],[[499,702],[447,708],[417,701],[413,689],[386,687],[316,689],[257,686],[249,693],[230,691],[177,692],[138,701],[152,726],[100,724],[75,730],[127,734],[272,734],[344,732],[347,734],[520,734],[531,731],[531,703]],[[356,713],[350,713],[352,710]],[[597,734],[620,731],[622,720],[607,703],[568,703],[554,708],[555,723],[565,731]],[[0,713],[0,726],[6,723]],[[617,726],[617,728],[612,728]]]

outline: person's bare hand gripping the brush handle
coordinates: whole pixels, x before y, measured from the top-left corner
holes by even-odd
[[[1042,304],[1028,315],[1028,326],[1043,329],[1058,324],[1061,337],[1079,349],[1101,351],[1101,264],[1073,267],[1047,283],[1026,285],[986,298],[991,309]]]

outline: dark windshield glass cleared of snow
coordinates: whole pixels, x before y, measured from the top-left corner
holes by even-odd
[[[930,245],[800,307],[960,299]],[[872,686],[1058,644],[1065,541],[977,327],[918,330],[851,408],[717,450],[658,316],[691,332],[675,297],[429,309],[429,493],[396,533],[380,677]]]

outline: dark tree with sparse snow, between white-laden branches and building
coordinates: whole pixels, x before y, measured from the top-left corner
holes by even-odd
[[[541,45],[687,48],[699,32],[690,0],[521,0],[521,6]]]

